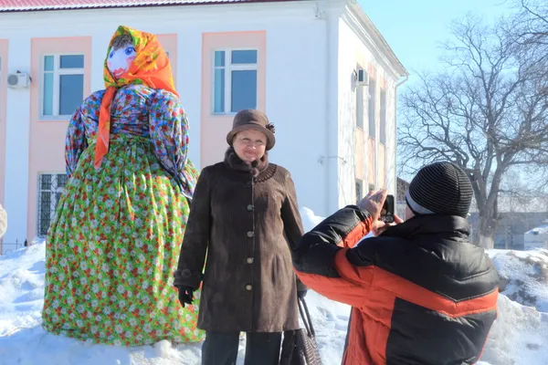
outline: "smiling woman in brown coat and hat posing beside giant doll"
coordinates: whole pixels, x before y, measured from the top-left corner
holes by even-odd
[[[174,286],[190,305],[203,279],[202,365],[236,363],[240,331],[248,337],[245,363],[274,365],[281,332],[299,328],[290,255],[302,235],[295,186],[269,163],[275,138],[264,113],[238,112],[227,142],[225,161],[206,167],[196,184]]]

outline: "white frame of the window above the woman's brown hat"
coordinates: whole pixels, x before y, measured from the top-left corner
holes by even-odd
[[[225,52],[225,66],[215,66],[215,53],[219,51]],[[257,63],[232,64],[232,51],[256,51]],[[216,48],[212,52],[211,68],[211,108],[210,112],[213,115],[236,115],[237,111],[232,111],[232,71],[258,71],[258,48],[253,47],[237,47],[237,48]],[[224,111],[215,111],[215,71],[216,69],[225,69],[225,108]]]

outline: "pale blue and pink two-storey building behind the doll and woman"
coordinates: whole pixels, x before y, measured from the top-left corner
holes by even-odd
[[[5,243],[47,234],[67,179],[68,119],[104,88],[119,25],[158,35],[168,51],[198,167],[223,158],[234,112],[257,108],[276,125],[270,160],[292,172],[301,206],[325,215],[365,189],[395,192],[395,98],[407,71],[353,0],[2,0]]]

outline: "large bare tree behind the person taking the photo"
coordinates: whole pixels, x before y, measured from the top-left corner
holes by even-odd
[[[408,167],[457,163],[468,173],[479,212],[479,245],[492,247],[501,181],[509,169],[548,166],[548,95],[538,62],[503,24],[456,22],[447,68],[421,75],[402,95],[400,155]]]

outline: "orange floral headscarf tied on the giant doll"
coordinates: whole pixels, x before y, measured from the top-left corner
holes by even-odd
[[[136,57],[133,59],[132,65],[127,72],[122,74],[120,78],[114,78],[107,66],[107,61],[111,53],[112,41],[117,36],[123,34],[132,37]],[[173,92],[178,97],[174,87],[169,58],[156,36],[132,29],[128,26],[119,26],[111,38],[111,44],[107,50],[107,57],[105,58],[103,67],[103,78],[106,91],[100,103],[99,130],[94,161],[96,169],[100,168],[103,156],[109,151],[111,103],[117,89],[131,84],[145,85],[149,88],[164,89]]]

